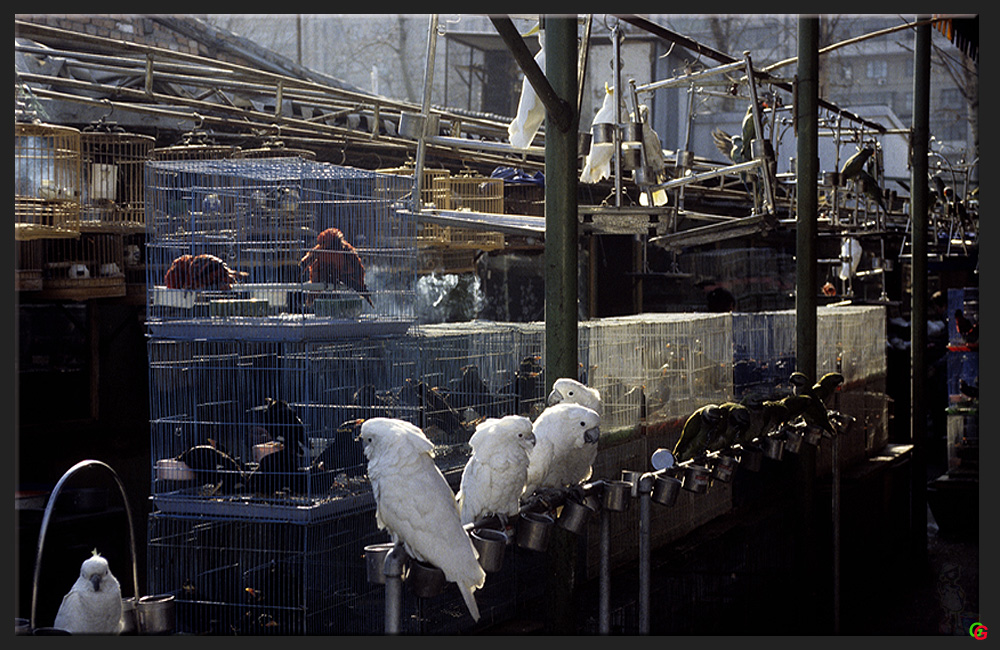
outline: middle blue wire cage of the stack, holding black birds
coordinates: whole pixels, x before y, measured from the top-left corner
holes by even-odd
[[[417,364],[407,337],[151,339],[148,351],[152,494],[172,512],[322,516],[370,490],[355,421],[418,417],[398,397]]]

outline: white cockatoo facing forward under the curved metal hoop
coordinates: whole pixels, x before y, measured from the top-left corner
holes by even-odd
[[[80,576],[63,596],[53,626],[70,634],[121,633],[121,585],[97,549],[80,566]]]

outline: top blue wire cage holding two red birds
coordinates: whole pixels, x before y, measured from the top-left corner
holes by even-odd
[[[404,178],[288,157],[151,162],[146,185],[147,321],[161,334],[413,320]]]

